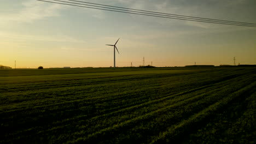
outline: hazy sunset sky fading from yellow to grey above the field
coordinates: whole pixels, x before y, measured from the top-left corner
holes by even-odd
[[[51,1],[51,0],[49,0]],[[66,0],[65,0],[66,1]],[[255,0],[81,0],[256,23]],[[14,68],[256,64],[256,28],[114,13],[36,0],[1,0],[0,65]]]

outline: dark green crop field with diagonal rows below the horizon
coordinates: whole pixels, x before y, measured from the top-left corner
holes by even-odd
[[[256,143],[255,68],[0,70],[0,143]]]

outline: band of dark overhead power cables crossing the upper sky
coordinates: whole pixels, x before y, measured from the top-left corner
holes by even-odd
[[[129,8],[123,8],[123,7],[110,6],[110,5],[96,4],[96,3],[84,4],[84,3],[88,3],[88,2],[82,2],[82,1],[74,1],[74,2],[79,2],[79,3],[60,1],[60,0],[51,0],[51,1],[50,0],[48,0],[48,1],[37,0],[37,1],[56,3],[56,4],[64,4],[64,5],[71,5],[71,6],[74,6],[74,7],[83,7],[83,8],[90,8],[90,9],[114,11],[114,12],[119,12],[119,13],[153,16],[153,17],[162,17],[162,18],[167,18],[167,19],[177,19],[177,20],[187,20],[187,21],[207,22],[207,23],[218,23],[218,24],[223,24],[223,25],[234,25],[234,26],[256,27],[256,23],[225,21],[225,20],[217,20],[217,19],[206,19],[206,18],[202,18],[202,17],[174,15],[174,14],[159,13],[159,12],[154,12],[154,11],[148,11],[147,12],[146,10],[129,9]],[[53,2],[53,1],[55,1],[55,2]],[[73,0],[68,0],[68,1],[73,1]],[[104,7],[98,6],[98,5],[102,5]],[[114,8],[112,8],[112,7],[114,7]],[[142,12],[142,11],[145,11],[145,12]]]

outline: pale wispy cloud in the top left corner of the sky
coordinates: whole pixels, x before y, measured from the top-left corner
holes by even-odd
[[[46,17],[60,16],[60,10],[65,8],[65,5],[50,4],[40,1],[30,0],[21,3],[22,8],[15,13],[3,13],[1,22],[34,22],[36,20],[45,19]]]

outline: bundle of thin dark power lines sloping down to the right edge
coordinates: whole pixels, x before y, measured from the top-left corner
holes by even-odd
[[[119,11],[119,10],[122,10],[122,9],[113,10],[113,8],[100,7],[100,6],[95,6],[95,5],[89,5],[90,7],[87,7],[87,6],[82,6],[82,5],[88,5],[88,4],[72,3],[72,2],[59,1],[59,0],[52,0],[52,1],[58,1],[58,2],[44,1],[44,0],[37,0],[37,1],[63,4],[63,5],[71,5],[71,6],[74,6],[74,7],[83,7],[83,8],[90,8],[90,9],[114,11],[114,12],[119,12],[119,13],[153,16],[153,17],[162,17],[162,18],[167,18],[167,19],[188,20],[188,21],[207,22],[207,23],[218,23],[218,24],[233,25],[233,26],[256,27],[256,24],[254,24],[254,23],[244,24],[244,22],[238,22],[238,23],[236,23],[236,22],[224,22],[224,21],[222,22],[222,20],[214,20],[214,19],[212,19],[212,20],[203,20],[204,18],[200,18],[200,17],[198,19],[197,18],[194,19],[194,18],[187,18],[187,17],[168,16],[168,15],[152,14],[152,13],[142,13],[142,12],[139,12],[139,11],[132,11],[132,10]],[[71,1],[71,0],[69,0],[69,1]],[[59,2],[65,2],[65,3],[59,3]],[[79,5],[74,5],[74,4],[79,4]],[[96,8],[94,8],[94,7],[96,7]],[[114,6],[111,6],[111,7],[114,7]],[[158,13],[158,12],[155,12],[155,13]],[[202,19],[202,20],[199,20],[199,19]]]

